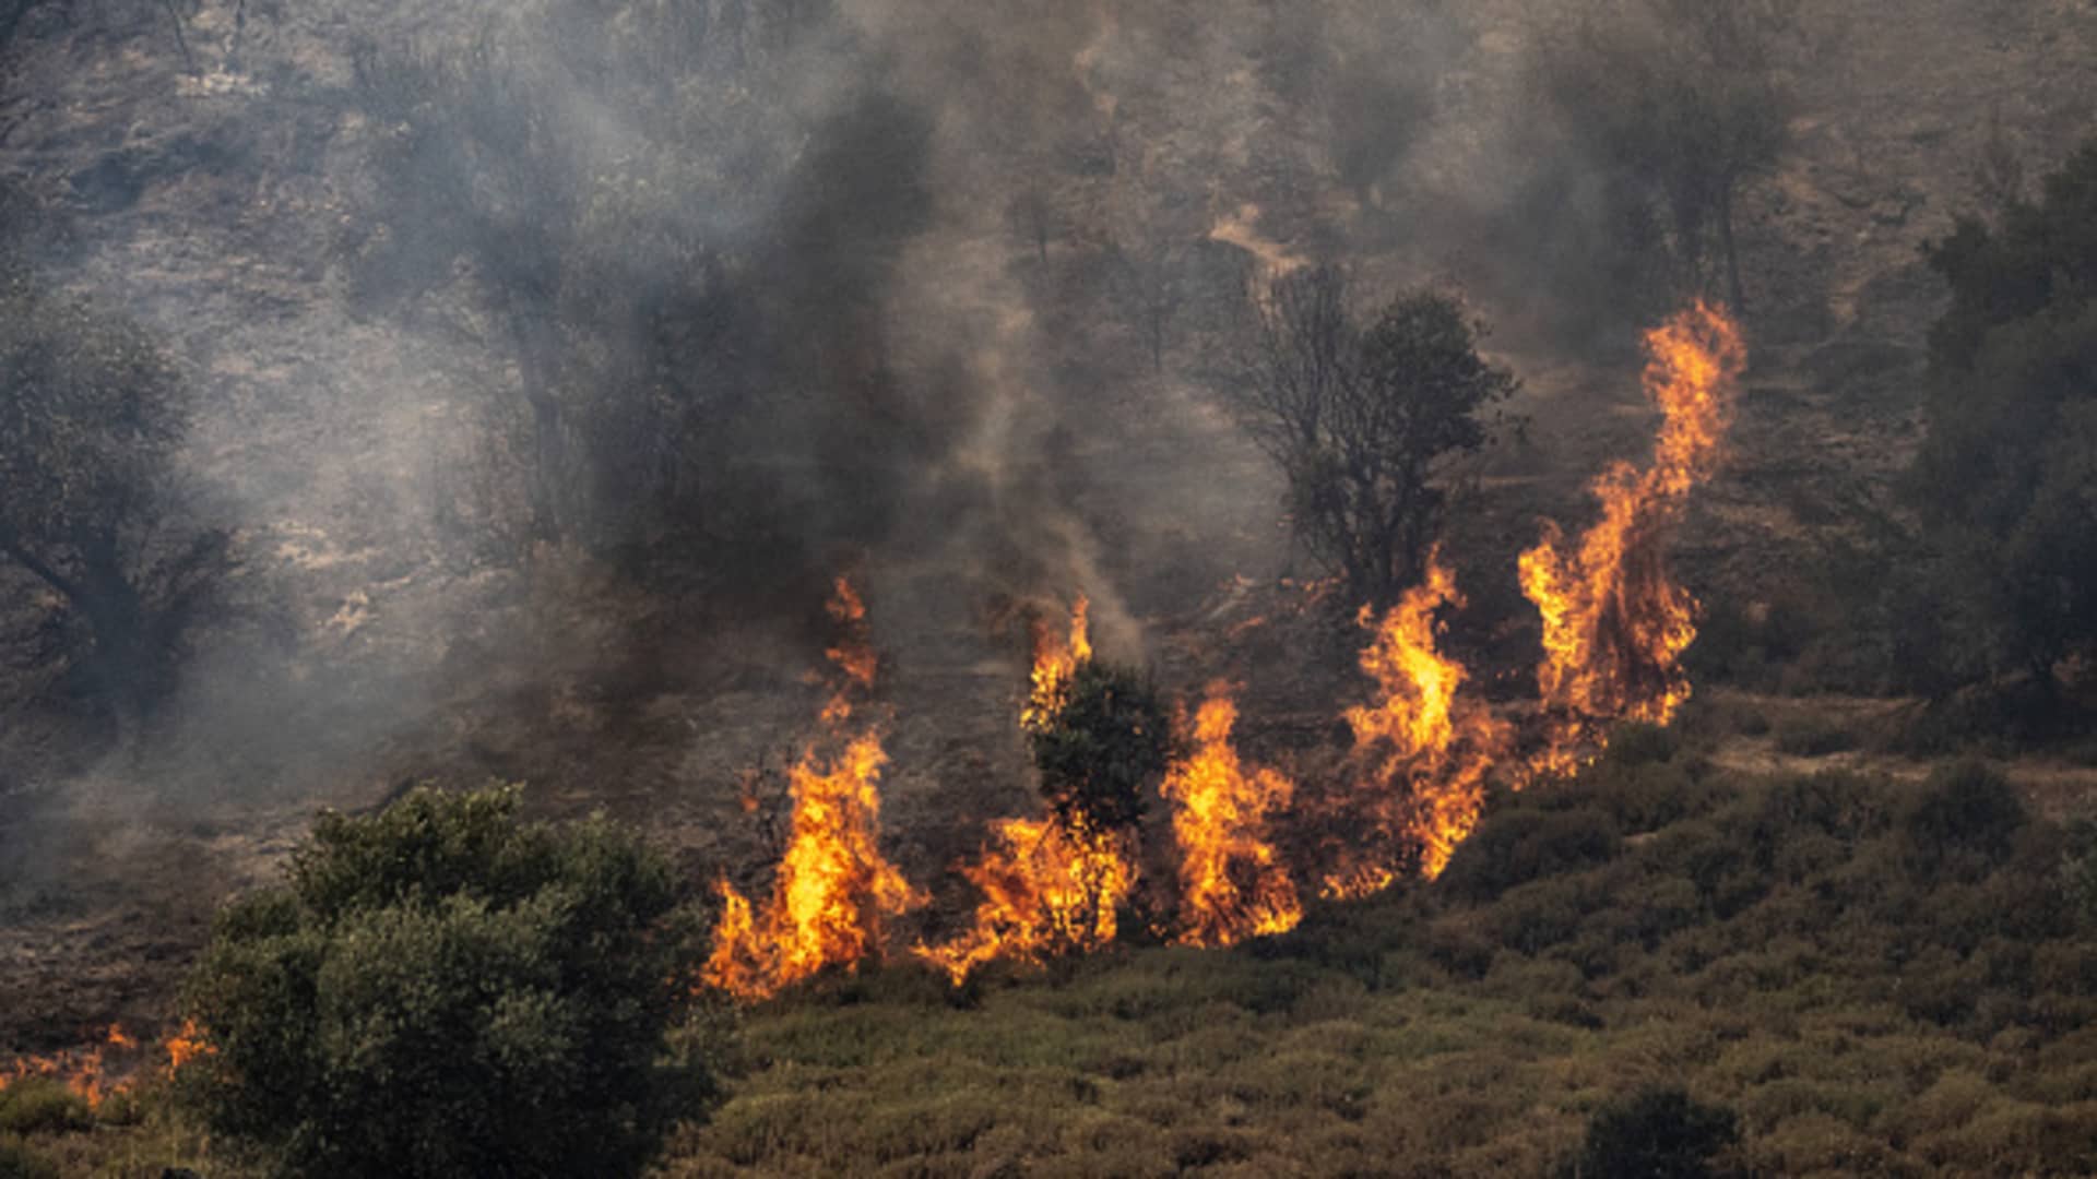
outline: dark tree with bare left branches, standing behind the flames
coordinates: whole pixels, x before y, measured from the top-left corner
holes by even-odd
[[[1520,382],[1478,355],[1485,327],[1415,290],[1363,329],[1332,266],[1277,279],[1229,384],[1290,483],[1296,535],[1361,598],[1388,604],[1441,524],[1447,468],[1487,443],[1485,411]]]

